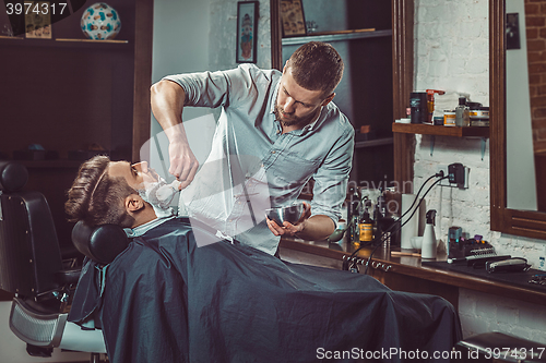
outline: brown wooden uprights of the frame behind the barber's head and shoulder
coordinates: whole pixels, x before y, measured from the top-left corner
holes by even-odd
[[[280,0],[270,1],[271,12],[271,66],[280,70],[283,64]],[[406,117],[406,105],[413,90],[414,58],[414,0],[391,0],[392,16],[392,89],[393,120]],[[400,193],[413,192],[413,164],[415,136],[393,133],[394,183]]]

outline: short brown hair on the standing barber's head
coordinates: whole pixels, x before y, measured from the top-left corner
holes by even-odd
[[[296,83],[309,90],[330,96],[343,77],[343,60],[331,45],[309,41],[292,55],[287,68]]]

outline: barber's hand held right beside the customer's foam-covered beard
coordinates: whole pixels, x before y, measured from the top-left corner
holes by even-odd
[[[169,173],[180,181],[179,190],[188,186],[199,168],[199,161],[191,152],[187,142],[170,142],[169,144],[170,168]]]

